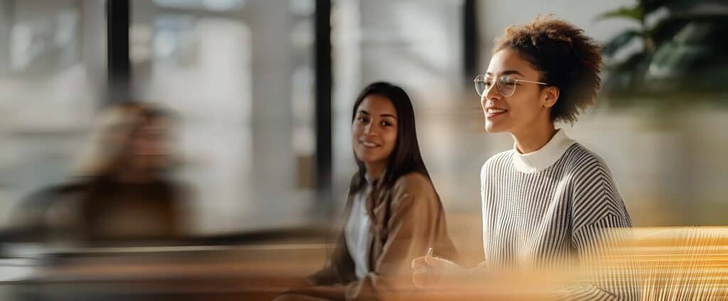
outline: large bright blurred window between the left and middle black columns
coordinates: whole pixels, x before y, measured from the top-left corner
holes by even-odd
[[[132,9],[132,95],[181,116],[190,230],[308,222],[314,2],[155,0]]]

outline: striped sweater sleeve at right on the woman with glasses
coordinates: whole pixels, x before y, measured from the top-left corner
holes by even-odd
[[[630,252],[632,222],[625,204],[601,158],[588,156],[580,166],[571,190],[571,245],[588,277],[569,287],[567,295],[570,300],[638,300],[633,257],[625,257],[619,267],[599,265],[607,252]]]

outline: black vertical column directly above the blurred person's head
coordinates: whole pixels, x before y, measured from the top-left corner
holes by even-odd
[[[106,1],[106,45],[108,47],[108,103],[129,100],[131,61],[129,59],[130,0]]]

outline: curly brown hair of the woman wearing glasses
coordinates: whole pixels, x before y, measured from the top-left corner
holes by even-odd
[[[551,15],[537,16],[531,23],[506,28],[493,53],[502,49],[517,52],[541,73],[539,81],[559,89],[551,121],[574,124],[577,115],[596,102],[601,47],[581,28]]]

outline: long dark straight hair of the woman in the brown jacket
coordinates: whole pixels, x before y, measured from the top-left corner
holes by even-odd
[[[378,81],[368,85],[357,97],[357,101],[354,103],[354,109],[352,110],[352,123],[357,116],[357,110],[362,101],[369,95],[380,95],[387,97],[392,105],[395,106],[397,111],[397,142],[395,148],[389,155],[387,160],[387,168],[384,174],[379,177],[372,190],[371,197],[376,198],[379,195],[381,189],[392,188],[399,177],[410,172],[419,172],[420,174],[427,177],[430,180],[430,174],[427,172],[427,167],[424,166],[422,161],[422,154],[419,152],[419,143],[417,143],[417,131],[415,129],[414,120],[414,108],[412,102],[405,93],[405,91],[393,84],[389,84],[384,81]],[[354,153],[354,158],[357,161],[359,170],[352,178],[352,183],[349,186],[351,194],[357,193],[364,187],[366,168],[364,162],[357,158]],[[432,181],[432,180],[430,180]],[[376,205],[381,200],[373,200]]]

